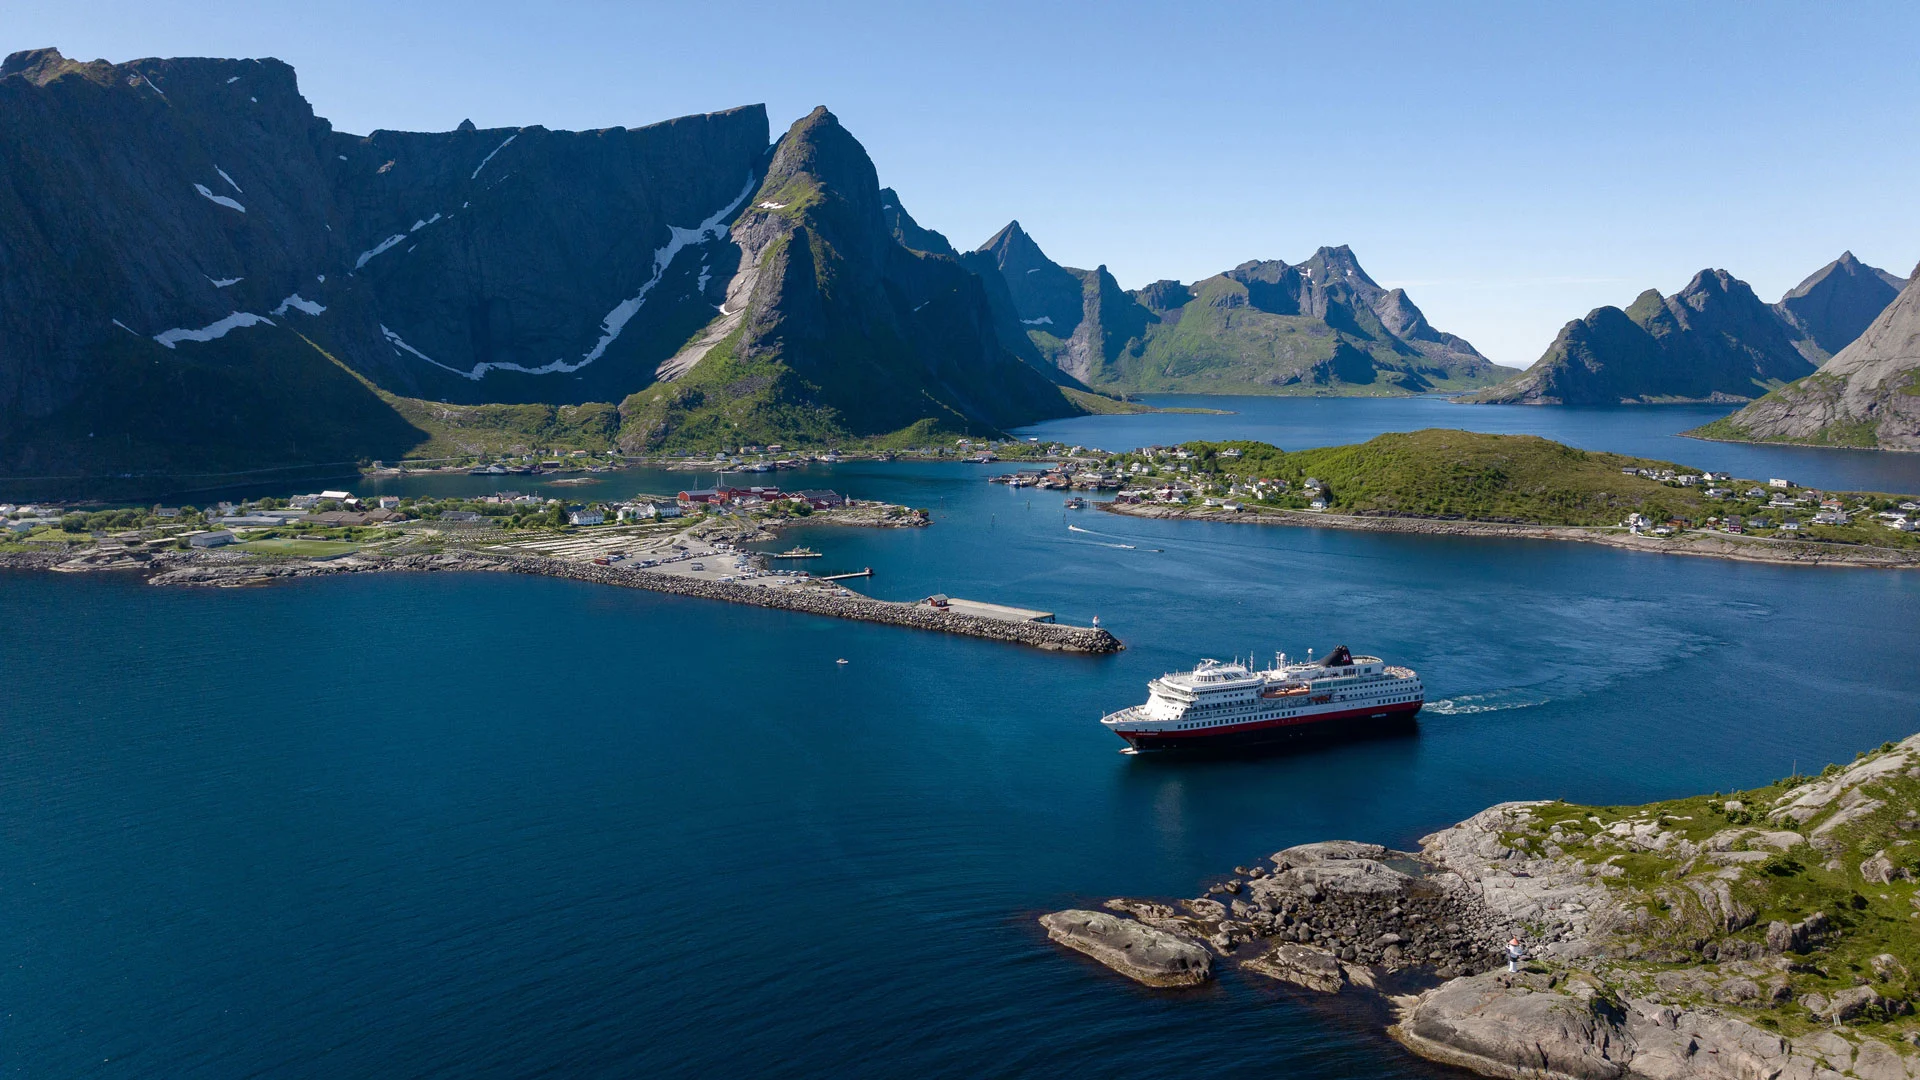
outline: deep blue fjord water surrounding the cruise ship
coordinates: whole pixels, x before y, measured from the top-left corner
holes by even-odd
[[[1235,972],[1146,992],[1033,917],[1501,799],[1759,784],[1920,726],[1914,575],[1137,521],[991,471],[818,471],[935,525],[778,546],[872,565],[885,598],[1100,615],[1127,651],[507,575],[0,575],[8,1068],[1440,1076],[1340,1003]],[[1417,736],[1129,759],[1094,723],[1198,655],[1334,644],[1421,671]]]

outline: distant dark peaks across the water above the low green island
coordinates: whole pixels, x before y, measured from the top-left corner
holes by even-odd
[[[1567,323],[1532,367],[1463,402],[1753,400],[1859,338],[1903,284],[1845,252],[1764,304],[1724,269],[1705,269],[1674,296],[1649,288],[1626,309],[1596,307]]]

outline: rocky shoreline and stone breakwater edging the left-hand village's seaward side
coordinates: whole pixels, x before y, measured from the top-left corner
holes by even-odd
[[[1119,651],[1119,638],[1098,626],[1064,626],[1058,623],[1012,623],[962,615],[956,611],[935,611],[918,603],[895,603],[872,600],[839,588],[781,586],[762,588],[739,582],[701,580],[682,575],[662,575],[643,569],[601,567],[570,559],[541,555],[492,553],[467,548],[447,548],[444,552],[420,553],[353,553],[336,559],[275,559],[248,555],[240,552],[156,552],[148,557],[115,555],[98,561],[75,561],[63,553],[0,553],[0,569],[33,571],[134,571],[148,575],[150,584],[161,586],[204,586],[240,588],[269,584],[282,578],[334,577],[351,573],[396,573],[396,571],[438,571],[438,573],[520,573],[586,580],[622,588],[645,588],[674,596],[693,596],[701,600],[724,600],[730,603],[751,603],[755,607],[778,607],[781,611],[801,611],[806,615],[828,615],[833,619],[854,619],[860,623],[883,623],[889,626],[908,626],[914,630],[935,630],[943,634],[962,634],[968,638],[987,638],[1018,646],[1031,646],[1046,651],[1069,651],[1102,655]]]

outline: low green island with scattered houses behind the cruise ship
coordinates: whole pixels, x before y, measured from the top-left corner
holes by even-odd
[[[1761,561],[1916,565],[1920,498],[1832,492],[1530,434],[1390,432],[1286,452],[1188,442],[1117,455],[1142,517],[1396,532],[1526,534]]]

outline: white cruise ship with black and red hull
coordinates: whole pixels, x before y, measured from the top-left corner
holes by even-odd
[[[1273,667],[1200,661],[1146,684],[1146,703],[1100,719],[1127,740],[1121,753],[1236,749],[1304,736],[1367,734],[1404,724],[1427,703],[1421,676],[1346,646]]]

